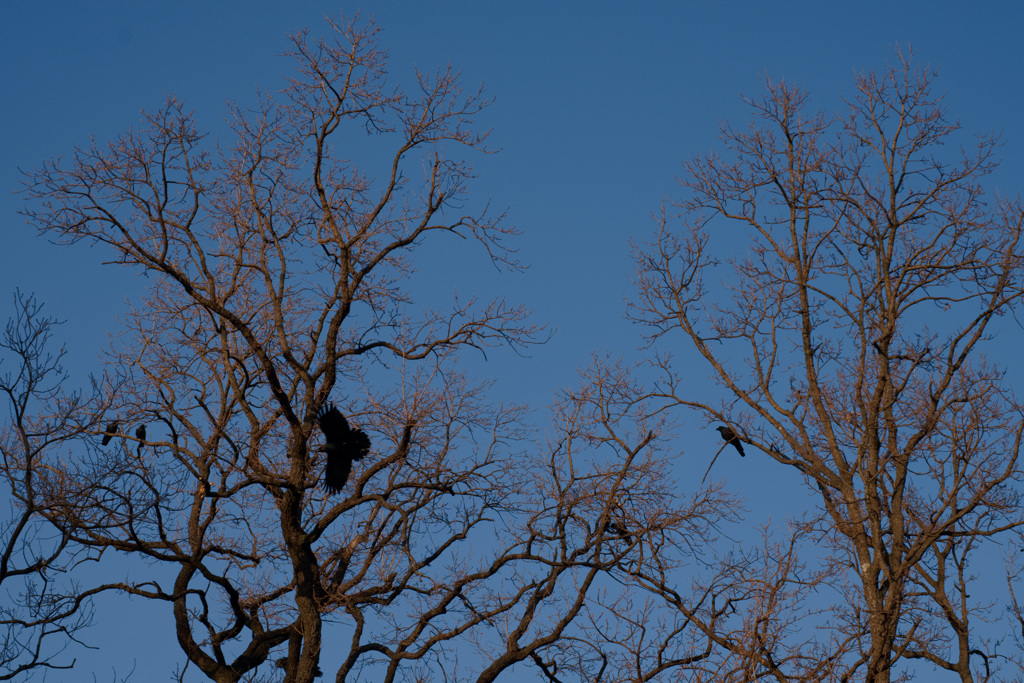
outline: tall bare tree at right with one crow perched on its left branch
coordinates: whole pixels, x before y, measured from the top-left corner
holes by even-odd
[[[901,56],[859,77],[836,119],[768,83],[750,128],[724,128],[725,154],[686,164],[682,226],[665,211],[638,249],[632,310],[656,393],[731,425],[818,497],[820,562],[845,569],[825,626],[851,644],[828,680],[902,679],[907,657],[974,680],[991,652],[968,558],[1022,521],[1022,407],[983,349],[1024,295],[1024,211],[984,195],[994,138],[950,151],[958,124],[933,79]],[[730,230],[737,253],[719,244],[739,242]],[[673,370],[678,343],[721,402]]]

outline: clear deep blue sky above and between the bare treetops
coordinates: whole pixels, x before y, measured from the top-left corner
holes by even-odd
[[[480,159],[474,191],[508,207],[529,269],[498,273],[480,255],[475,263],[427,265],[424,278],[460,294],[503,293],[550,324],[552,340],[530,357],[496,352],[481,365],[500,391],[538,407],[571,383],[592,352],[635,352],[639,331],[624,319],[630,240],[650,234],[651,212],[673,196],[680,162],[715,148],[720,122],[746,120],[740,96],[760,94],[765,75],[806,87],[835,112],[855,73],[883,67],[894,46],[909,45],[939,69],[952,118],[968,130],[1002,132],[994,184],[1008,194],[1024,186],[1018,2],[8,1],[0,3],[2,317],[15,287],[36,293],[68,321],[69,369],[84,382],[145,283],[102,265],[98,248],[56,248],[39,238],[17,213],[18,169],[70,155],[90,136],[105,141],[170,93],[211,135],[223,135],[226,101],[246,104],[257,87],[281,87],[292,68],[280,56],[287,35],[305,27],[322,34],[324,14],[339,9],[383,27],[396,82],[409,83],[414,66],[452,62],[467,86],[482,83],[496,98],[481,121],[502,152]],[[717,434],[693,429],[680,451],[702,473]],[[750,490],[758,506],[779,468],[756,458],[743,465],[721,475],[732,474],[730,484]],[[131,636],[139,647],[135,680],[165,680],[167,659],[143,654],[157,630]],[[157,647],[176,650],[173,640]],[[83,659],[95,669],[51,680],[92,680],[93,670],[110,680],[112,667],[126,674],[131,658],[104,646],[101,657]]]

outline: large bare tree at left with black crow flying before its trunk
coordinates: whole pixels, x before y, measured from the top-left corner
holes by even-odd
[[[232,110],[230,144],[171,98],[29,181],[40,229],[152,282],[110,354],[123,428],[106,446],[95,428],[48,504],[77,544],[176,567],[111,587],[166,602],[188,666],[216,681],[278,675],[257,672],[271,651],[286,680],[312,680],[332,621],[349,630],[339,677],[383,659],[395,678],[432,651],[430,621],[396,614],[470,571],[453,547],[515,492],[519,409],[489,405],[454,362],[537,330],[503,301],[418,313],[402,289],[414,248],[442,234],[516,266],[504,217],[463,212],[461,150],[484,150],[487,100],[451,69],[390,89],[377,29],[332,28],[295,36],[296,77]],[[381,178],[352,161],[352,133],[391,145]],[[330,402],[373,442],[334,497],[314,450]]]

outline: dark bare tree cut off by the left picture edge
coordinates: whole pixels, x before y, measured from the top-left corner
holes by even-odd
[[[73,417],[83,405],[61,385],[63,349],[50,351],[54,318],[31,296],[14,294],[14,314],[0,348],[0,394],[9,422],[0,431],[4,499],[8,514],[0,533],[0,680],[25,680],[33,670],[70,669],[68,652],[91,621],[87,595],[75,590],[68,571],[86,559],[69,547],[67,533],[46,520],[49,506],[40,488],[47,471],[59,468],[65,442],[80,433]]]

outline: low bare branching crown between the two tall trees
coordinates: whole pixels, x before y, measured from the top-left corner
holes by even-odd
[[[562,392],[549,460],[534,474],[540,495],[517,533],[522,550],[505,553],[528,550],[519,581],[544,588],[530,609],[516,605],[514,638],[503,639],[517,648],[507,655],[529,654],[549,682],[680,677],[727,651],[716,638],[729,592],[717,588],[728,580],[716,567],[710,581],[687,577],[708,568],[717,529],[738,519],[739,503],[715,488],[679,494],[671,425],[633,372],[598,359]],[[651,600],[657,591],[675,598],[670,609]]]

